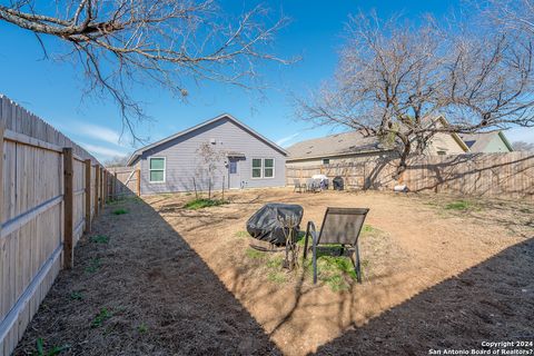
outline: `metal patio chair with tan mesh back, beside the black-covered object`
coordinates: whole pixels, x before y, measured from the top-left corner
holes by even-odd
[[[362,269],[359,264],[358,237],[364,226],[367,208],[326,208],[320,231],[317,235],[315,224],[308,221],[304,237],[304,259],[308,251],[308,237],[312,237],[312,261],[314,268],[314,284],[317,283],[317,246],[326,244],[340,244],[340,255],[348,246],[350,260],[356,271],[358,283],[362,283]]]

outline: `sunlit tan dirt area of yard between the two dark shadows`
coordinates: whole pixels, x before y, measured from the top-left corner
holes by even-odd
[[[534,235],[528,225],[532,215],[527,211],[532,205],[525,202],[481,200],[476,210],[461,211],[446,208],[458,199],[448,196],[306,195],[271,189],[231,195],[233,204],[196,215],[166,209],[169,205],[179,206],[182,199],[151,197],[148,202],[165,211],[162,217],[182,234],[288,355],[314,352],[319,345],[358,329],[385,310]],[[300,204],[304,221],[316,222],[327,206],[370,208],[366,222],[383,234],[364,234],[362,238],[360,255],[366,261],[364,283],[348,280],[347,288],[337,290],[326,281],[314,286],[305,273],[288,275],[281,268],[275,270],[273,265],[277,265],[269,266],[269,261],[276,257],[266,260],[251,256],[243,233],[245,221],[268,201]],[[433,303],[444,307],[449,300]],[[478,309],[491,314],[484,307]],[[473,339],[476,340],[476,335]]]

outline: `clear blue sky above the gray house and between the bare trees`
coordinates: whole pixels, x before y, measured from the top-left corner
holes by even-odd
[[[137,132],[155,141],[204,120],[229,112],[273,141],[288,146],[332,132],[314,128],[295,116],[294,96],[305,96],[334,72],[343,44],[344,26],[358,9],[375,9],[380,17],[402,11],[409,17],[431,12],[437,17],[457,8],[459,1],[330,0],[264,2],[283,11],[291,22],[277,36],[273,50],[280,57],[301,57],[293,66],[269,65],[260,75],[269,89],[263,95],[228,85],[204,82],[188,87],[187,102],[159,88],[134,88],[142,97],[146,113],[152,120],[138,126]],[[229,12],[240,12],[250,1],[222,1]],[[47,40],[49,53],[58,41]],[[121,120],[111,100],[83,97],[83,76],[71,63],[42,60],[42,50],[31,32],[0,22],[0,92],[40,116],[63,134],[85,146],[99,159],[134,150],[121,137]],[[514,129],[508,138],[534,142],[534,131]]]

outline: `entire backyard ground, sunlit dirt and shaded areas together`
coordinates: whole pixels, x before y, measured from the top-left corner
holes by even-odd
[[[16,354],[42,338],[76,355],[419,355],[534,334],[532,204],[289,189],[228,198],[199,210],[184,209],[184,195],[109,206]],[[251,255],[245,221],[268,201],[300,204],[316,222],[327,206],[370,208],[363,284],[313,285],[306,268],[288,275],[268,264],[276,254]]]

